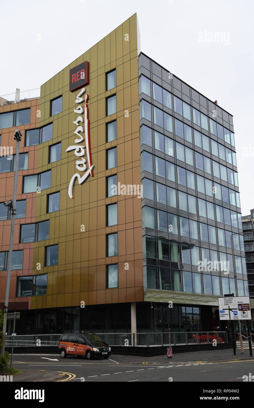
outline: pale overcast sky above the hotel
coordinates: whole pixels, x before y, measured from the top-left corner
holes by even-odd
[[[254,208],[253,0],[2,2],[0,95],[40,87],[135,12],[141,51],[234,116],[241,208],[249,214]],[[210,32],[222,32],[222,40],[205,41]]]

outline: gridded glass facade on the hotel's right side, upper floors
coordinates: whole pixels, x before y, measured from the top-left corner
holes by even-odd
[[[142,54],[139,75],[144,286],[223,295],[234,256],[247,295],[232,119]]]

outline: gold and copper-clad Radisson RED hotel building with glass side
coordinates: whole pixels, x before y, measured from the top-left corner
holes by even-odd
[[[248,295],[232,115],[141,53],[136,14],[40,98],[1,99],[1,308],[17,128],[17,334],[225,330],[232,256]]]

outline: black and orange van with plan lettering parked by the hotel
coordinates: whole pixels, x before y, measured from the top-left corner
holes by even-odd
[[[111,355],[111,347],[94,333],[62,334],[58,348],[62,358],[76,355],[86,356],[88,360],[92,360],[94,357],[107,359]]]

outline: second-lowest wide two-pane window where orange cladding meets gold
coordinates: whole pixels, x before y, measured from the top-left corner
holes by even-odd
[[[49,220],[20,226],[20,243],[49,239]]]

